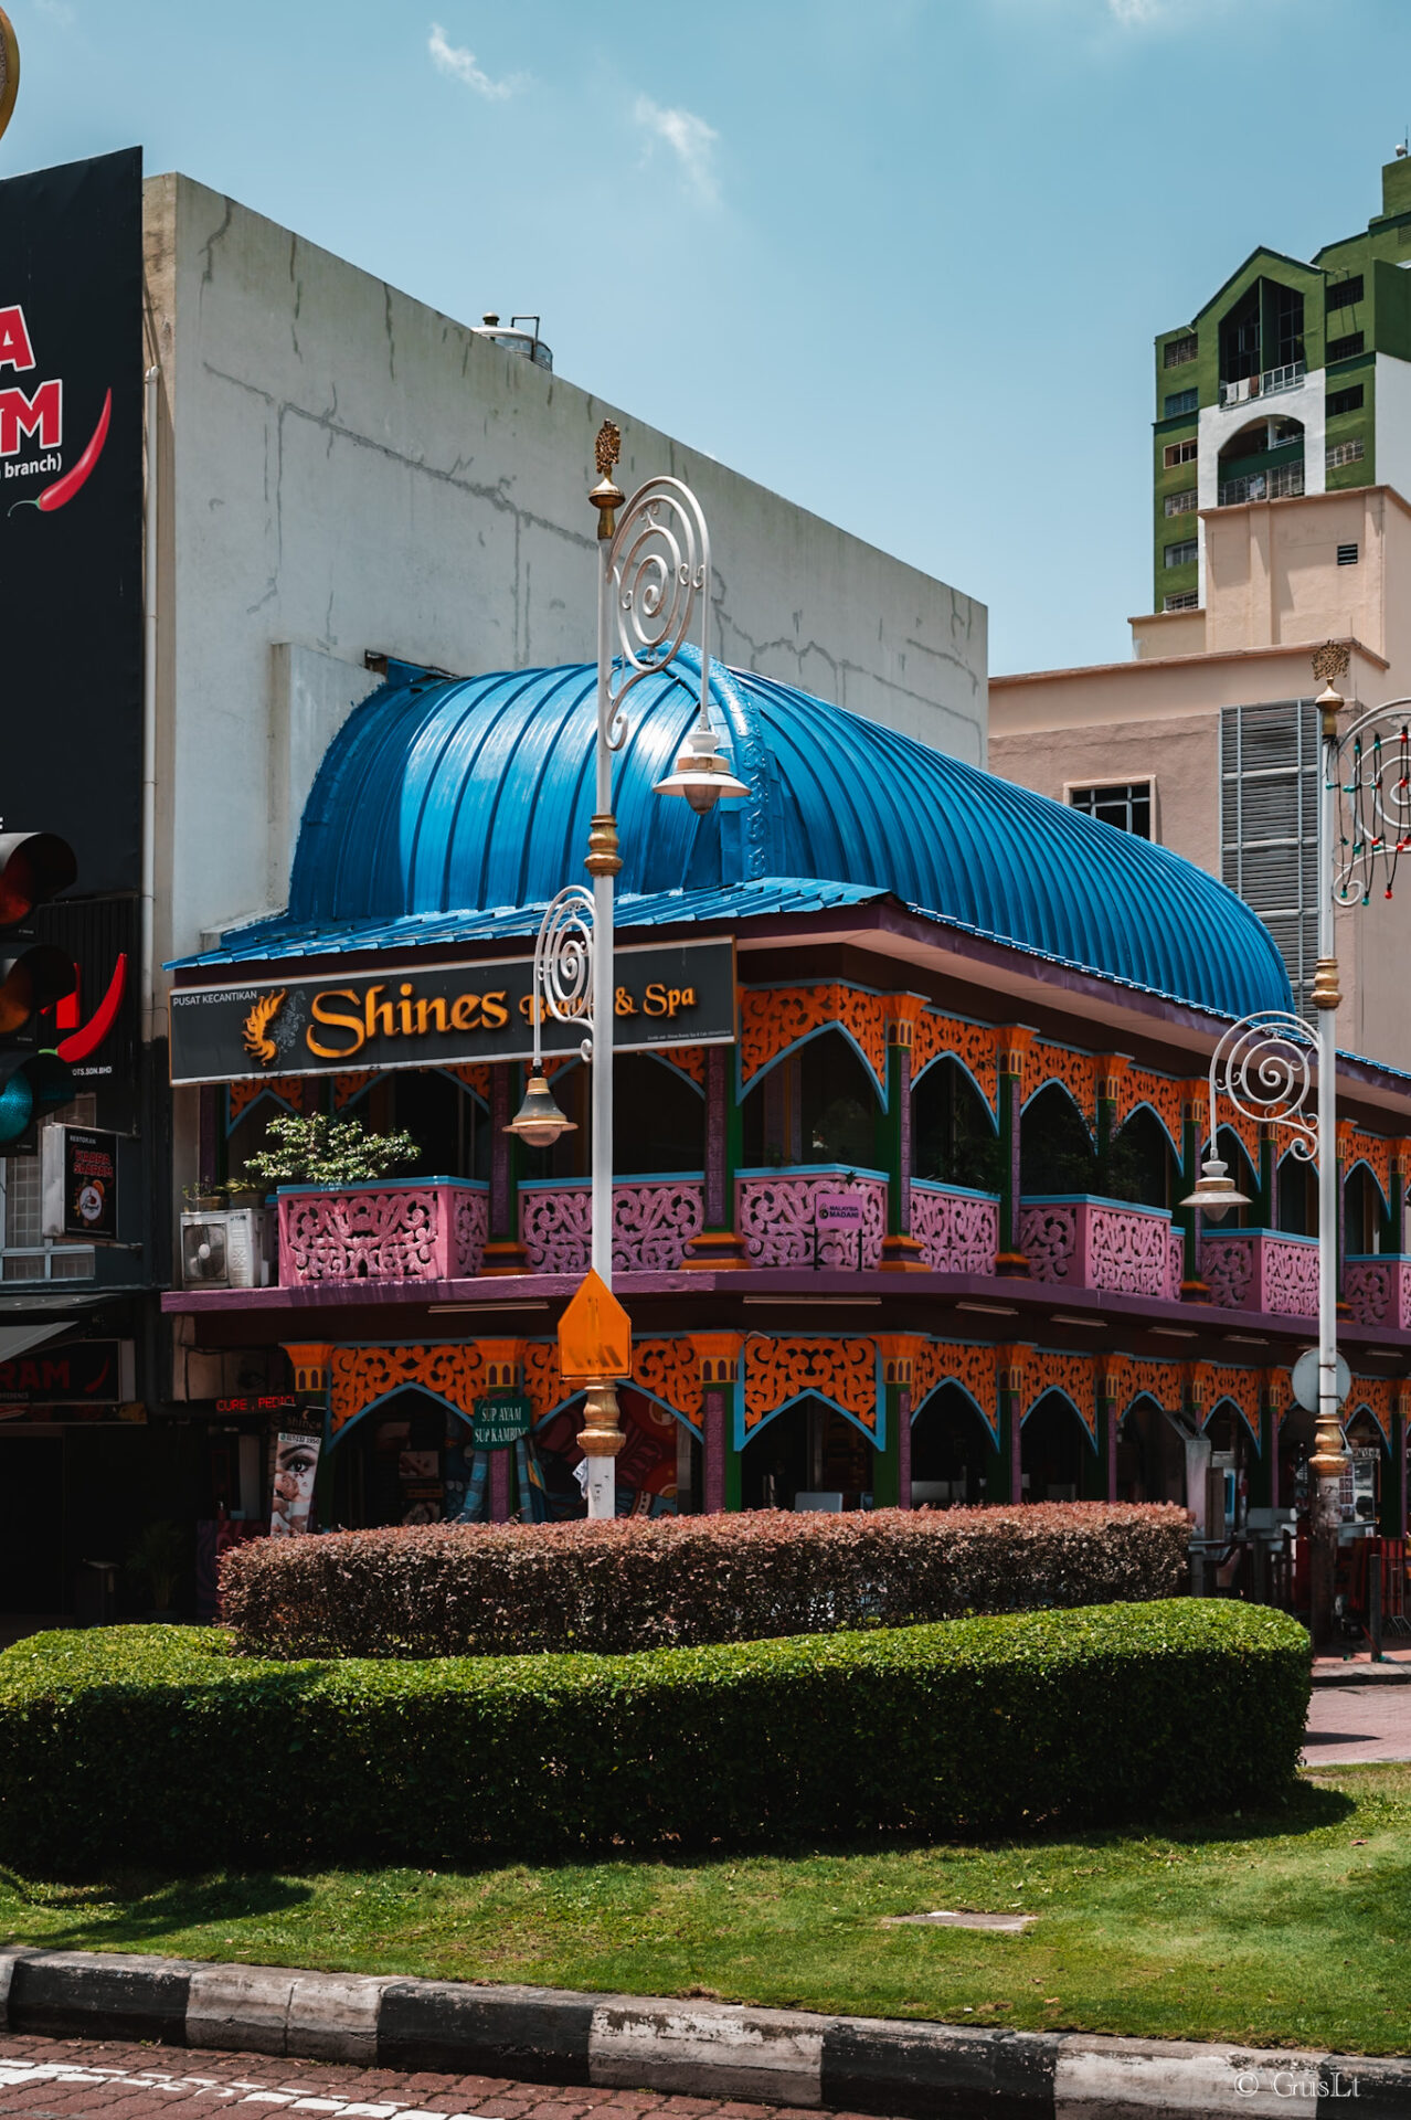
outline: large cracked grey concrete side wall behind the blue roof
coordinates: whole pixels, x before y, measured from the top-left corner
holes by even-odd
[[[627,492],[674,473],[706,507],[714,653],[983,763],[985,608],[960,591],[189,178],[146,184],[146,263],[159,958],[284,901],[367,651],[456,672],[593,655],[608,416]]]

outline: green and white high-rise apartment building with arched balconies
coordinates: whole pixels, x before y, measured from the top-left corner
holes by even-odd
[[[1411,500],[1411,157],[1367,233],[1311,265],[1254,250],[1189,324],[1157,333],[1155,600],[1205,600],[1201,509],[1394,485]],[[1339,547],[1356,566],[1358,547]]]

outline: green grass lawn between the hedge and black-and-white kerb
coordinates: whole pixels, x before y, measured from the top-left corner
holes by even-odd
[[[1025,1936],[886,1929],[930,1908]],[[1305,1781],[1225,1827],[720,1861],[28,1883],[13,1944],[1411,2050],[1411,1766]]]

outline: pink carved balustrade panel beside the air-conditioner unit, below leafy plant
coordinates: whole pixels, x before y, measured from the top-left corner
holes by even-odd
[[[487,1225],[487,1189],[466,1179],[282,1187],[280,1287],[472,1278]]]

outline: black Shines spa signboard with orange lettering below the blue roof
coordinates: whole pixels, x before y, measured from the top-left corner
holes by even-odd
[[[390,1066],[528,1060],[534,1052],[534,960],[328,971],[318,979],[172,990],[172,1081],[339,1075]],[[619,950],[614,1049],[725,1045],[735,1037],[735,943]],[[583,1028],[544,1015],[547,1054],[570,1054]]]

